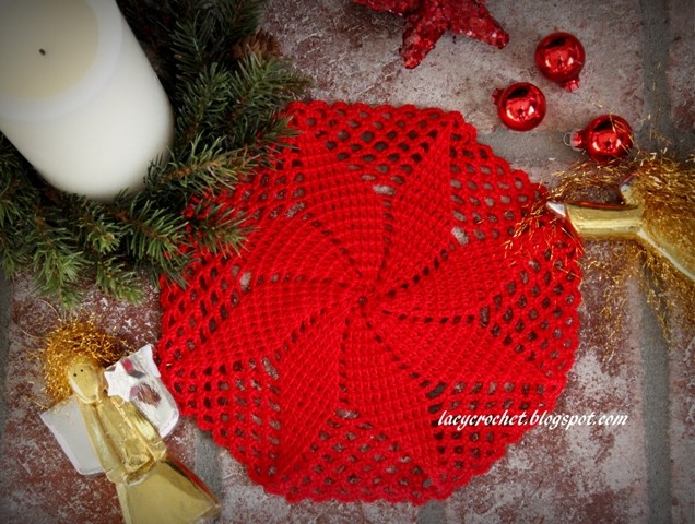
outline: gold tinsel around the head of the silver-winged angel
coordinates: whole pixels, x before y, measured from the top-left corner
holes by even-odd
[[[48,334],[39,355],[46,392],[54,404],[72,394],[66,370],[76,356],[85,356],[99,367],[108,367],[127,353],[122,341],[105,333],[92,318],[62,321]]]

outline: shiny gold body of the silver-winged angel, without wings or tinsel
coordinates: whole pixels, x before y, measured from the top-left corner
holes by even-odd
[[[66,373],[98,462],[116,484],[126,523],[193,523],[219,514],[215,497],[167,453],[136,405],[107,395],[102,368],[76,356]]]

